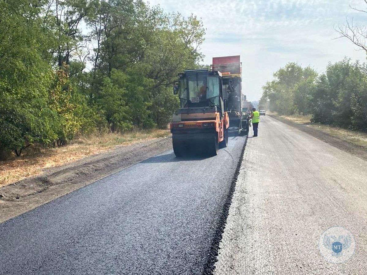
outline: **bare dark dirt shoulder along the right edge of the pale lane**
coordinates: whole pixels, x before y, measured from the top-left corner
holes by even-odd
[[[341,138],[335,137],[323,131],[309,127],[307,124],[299,124],[299,123],[292,122],[291,120],[281,118],[279,115],[269,115],[269,116],[283,123],[286,123],[287,125],[295,127],[298,130],[304,131],[305,133],[308,133],[312,135],[313,137],[321,141],[324,141],[340,150],[348,152],[352,154],[353,156],[359,157],[360,159],[367,161],[367,150],[363,146],[359,146],[351,142],[348,142],[346,140],[342,140]]]

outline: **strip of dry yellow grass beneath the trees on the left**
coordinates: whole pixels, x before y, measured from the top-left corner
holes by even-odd
[[[0,161],[0,187],[41,174],[44,168],[60,166],[86,156],[105,152],[120,145],[129,145],[142,140],[166,137],[169,130],[132,131],[124,134],[105,133],[80,137],[69,145],[41,149],[37,153],[26,152],[19,158]]]

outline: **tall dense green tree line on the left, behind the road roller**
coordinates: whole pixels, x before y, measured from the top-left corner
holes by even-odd
[[[203,23],[141,0],[0,1],[0,152],[166,127]]]

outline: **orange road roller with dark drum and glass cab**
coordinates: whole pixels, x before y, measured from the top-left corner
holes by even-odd
[[[217,70],[185,70],[174,82],[180,108],[170,130],[177,157],[190,153],[215,156],[228,144],[229,117],[225,111],[223,77]]]

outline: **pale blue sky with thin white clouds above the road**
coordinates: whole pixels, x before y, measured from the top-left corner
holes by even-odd
[[[366,53],[346,39],[335,40],[335,25],[346,18],[366,22],[367,15],[349,5],[366,8],[363,0],[150,0],[166,12],[197,15],[206,27],[201,47],[211,64],[213,56],[241,55],[243,93],[258,100],[262,85],[287,62],[310,65],[323,72],[328,62],[365,60]]]

